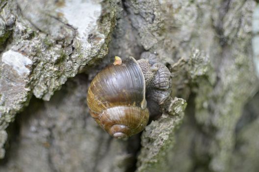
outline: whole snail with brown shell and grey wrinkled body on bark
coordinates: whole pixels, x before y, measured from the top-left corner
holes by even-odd
[[[157,104],[163,103],[170,95],[170,75],[161,63],[133,57],[122,62],[115,57],[88,88],[90,115],[115,138],[135,135],[149,121],[146,95]]]

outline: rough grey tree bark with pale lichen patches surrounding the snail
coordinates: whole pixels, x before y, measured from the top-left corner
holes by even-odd
[[[256,6],[1,0],[0,171],[258,172]],[[172,73],[164,113],[128,140],[112,139],[86,105],[115,55],[156,55]]]

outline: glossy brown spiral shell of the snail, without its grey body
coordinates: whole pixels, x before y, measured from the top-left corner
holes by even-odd
[[[115,138],[127,138],[148,123],[145,78],[137,61],[107,66],[92,81],[87,104],[95,121]]]

